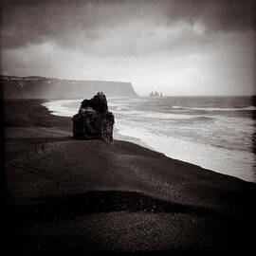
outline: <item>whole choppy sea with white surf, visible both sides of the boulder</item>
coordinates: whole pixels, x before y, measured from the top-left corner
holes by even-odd
[[[48,101],[72,117],[82,99]],[[254,97],[109,98],[115,129],[126,140],[212,171],[256,182]]]

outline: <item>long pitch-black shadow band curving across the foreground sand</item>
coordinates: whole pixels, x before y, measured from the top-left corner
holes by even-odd
[[[164,201],[140,192],[94,191],[60,197],[40,197],[37,203],[15,207],[9,212],[17,222],[71,219],[99,212],[188,213],[227,219],[225,212]]]

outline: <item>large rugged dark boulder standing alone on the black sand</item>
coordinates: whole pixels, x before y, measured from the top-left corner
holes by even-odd
[[[73,116],[73,137],[113,141],[114,115],[108,111],[102,92],[91,100],[83,100],[78,114]]]

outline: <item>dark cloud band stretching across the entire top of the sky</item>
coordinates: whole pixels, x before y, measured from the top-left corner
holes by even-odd
[[[99,36],[107,37],[107,29],[127,26],[134,20],[145,24],[152,20],[167,27],[177,22],[199,23],[208,32],[255,29],[255,1],[10,0],[1,1],[1,18],[3,48],[48,41],[84,48]]]

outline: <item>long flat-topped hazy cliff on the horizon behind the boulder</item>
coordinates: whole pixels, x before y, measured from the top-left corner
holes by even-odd
[[[84,99],[102,91],[106,97],[137,96],[130,82],[101,82],[49,79],[43,77],[0,76],[5,99]]]

